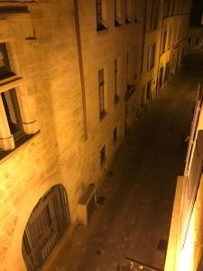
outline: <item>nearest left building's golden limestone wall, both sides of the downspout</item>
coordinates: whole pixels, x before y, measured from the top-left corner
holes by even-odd
[[[29,10],[29,14],[6,14],[0,20],[0,41],[6,42],[14,71],[23,78],[17,93],[20,103],[25,105],[21,109],[36,120],[39,131],[0,161],[0,270],[25,270],[23,230],[34,206],[51,186],[61,183],[65,187],[70,220],[75,223],[81,193],[88,183],[102,180],[124,138],[127,51],[129,76],[135,85],[129,101],[132,121],[140,106],[144,6],[136,5],[137,20],[132,19],[132,23],[125,24],[123,14],[123,25],[115,29],[114,7],[111,1],[106,2],[108,30],[97,33],[95,1],[79,1],[88,140],[84,137],[73,1],[0,2],[0,8],[26,5]],[[117,57],[121,62],[121,77],[119,100],[115,104]],[[105,69],[107,113],[102,121],[97,81],[97,71],[101,68]],[[114,145],[115,126],[118,140]],[[103,145],[106,145],[106,164],[101,167]]]

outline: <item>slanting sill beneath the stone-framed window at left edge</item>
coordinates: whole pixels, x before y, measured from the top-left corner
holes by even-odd
[[[4,151],[0,149],[0,164],[4,163],[5,160],[9,159],[17,150],[20,149],[21,146],[29,143],[33,137],[38,135],[40,130],[32,135],[23,134],[18,140],[15,142],[15,148],[13,150]]]

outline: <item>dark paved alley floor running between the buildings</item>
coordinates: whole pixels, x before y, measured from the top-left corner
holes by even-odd
[[[198,74],[182,71],[146,109],[116,154],[89,225],[78,225],[49,271],[117,271],[125,257],[163,270]]]

